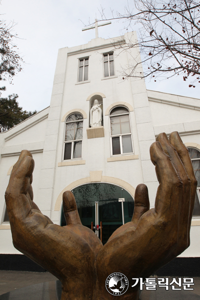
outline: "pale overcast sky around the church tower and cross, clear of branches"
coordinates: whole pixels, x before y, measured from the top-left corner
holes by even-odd
[[[99,18],[101,6],[109,17],[110,8],[122,12],[126,3],[121,0],[1,0],[1,19],[16,23],[13,33],[19,38],[14,42],[25,61],[13,84],[5,83],[7,90],[2,96],[17,93],[19,105],[26,110],[47,107],[58,48],[87,43],[95,37],[95,31],[81,31],[82,22],[87,25],[95,16]],[[98,32],[99,37],[109,38],[124,34],[126,28],[124,23],[112,21],[111,25],[99,27]],[[148,89],[200,97],[199,83],[195,88],[189,88],[188,84],[182,76],[160,82],[146,79]]]

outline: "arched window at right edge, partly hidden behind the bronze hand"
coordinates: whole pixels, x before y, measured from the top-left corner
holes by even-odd
[[[194,175],[197,180],[197,190],[194,202],[193,216],[200,215],[200,151],[195,148],[188,148],[191,158]]]

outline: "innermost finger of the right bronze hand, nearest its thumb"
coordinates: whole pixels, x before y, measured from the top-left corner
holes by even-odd
[[[170,157],[164,153],[160,142],[155,141],[150,146],[150,158],[155,165],[159,182],[155,198],[155,212],[161,213],[162,216],[166,217],[166,220],[169,220],[179,213],[182,182]]]

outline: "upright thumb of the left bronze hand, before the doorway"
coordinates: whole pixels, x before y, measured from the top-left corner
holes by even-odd
[[[80,217],[77,211],[74,195],[67,190],[62,195],[64,217],[67,225],[81,224]]]

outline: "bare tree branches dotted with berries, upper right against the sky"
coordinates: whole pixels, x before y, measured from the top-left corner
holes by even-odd
[[[140,24],[138,41],[122,45],[123,50],[139,46],[142,62],[124,70],[124,77],[171,77],[200,82],[200,2],[195,0],[134,0],[135,7],[125,7],[112,19],[124,19],[127,27]],[[105,19],[103,10],[102,19]],[[106,18],[107,19],[107,18]],[[142,63],[143,73],[137,72]]]

